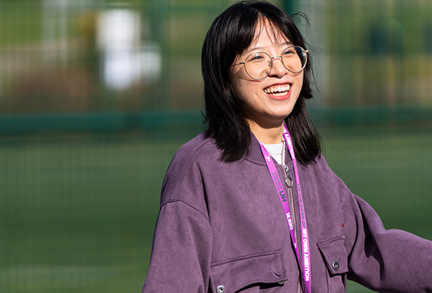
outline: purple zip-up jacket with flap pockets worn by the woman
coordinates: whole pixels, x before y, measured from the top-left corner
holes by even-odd
[[[240,161],[224,163],[220,155],[200,134],[171,161],[142,292],[299,292],[288,223],[258,141],[252,137]],[[322,156],[299,166],[299,175],[312,293],[346,292],[347,278],[377,292],[432,292],[432,241],[386,230]]]

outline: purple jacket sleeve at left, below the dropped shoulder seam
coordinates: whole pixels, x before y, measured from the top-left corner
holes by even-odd
[[[161,207],[143,293],[208,292],[212,233],[208,219],[181,201]]]

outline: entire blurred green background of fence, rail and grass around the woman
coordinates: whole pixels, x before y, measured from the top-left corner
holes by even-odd
[[[205,129],[201,45],[232,3],[0,0],[0,292],[140,292],[164,173]],[[432,2],[274,3],[309,18],[331,168],[388,229],[432,239]]]

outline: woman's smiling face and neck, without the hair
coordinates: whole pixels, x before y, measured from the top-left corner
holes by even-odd
[[[243,68],[234,67],[232,70],[232,85],[234,94],[241,100],[241,111],[256,138],[266,144],[278,144],[282,141],[281,125],[285,117],[292,112],[302,89],[302,62],[292,62],[290,52],[294,51],[294,54],[298,55],[292,50],[292,46],[287,47],[288,44],[290,40],[275,31],[271,23],[261,22],[251,47],[237,57],[244,59],[244,55],[252,52],[252,61],[248,60],[247,67],[244,63]],[[261,50],[276,57],[263,58],[261,61],[261,56],[270,56],[268,53],[259,53]],[[300,60],[300,57],[294,58]],[[255,63],[251,64],[254,61]],[[288,64],[293,64],[291,67],[297,64],[297,72],[290,71]],[[257,71],[264,72],[265,74],[256,76],[265,76],[254,79],[247,69],[254,74]]]

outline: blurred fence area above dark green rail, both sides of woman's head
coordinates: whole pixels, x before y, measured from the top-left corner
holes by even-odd
[[[2,0],[0,113],[202,108],[200,48],[230,3]],[[309,18],[319,108],[432,108],[430,1],[278,4]]]

